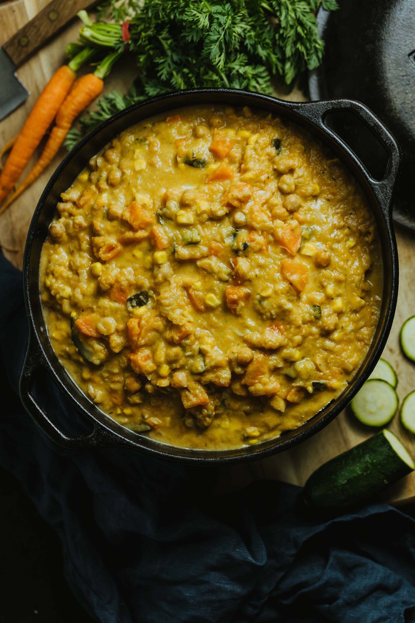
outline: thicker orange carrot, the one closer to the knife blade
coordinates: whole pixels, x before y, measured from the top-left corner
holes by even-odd
[[[85,53],[85,50],[88,52]],[[47,129],[55,118],[63,100],[75,80],[75,71],[82,62],[95,54],[93,48],[85,48],[81,54],[68,65],[63,65],[55,72],[40,93],[32,112],[13,145],[6,164],[0,174],[0,203],[6,197],[21,176],[23,169],[34,154],[35,149],[44,137]]]

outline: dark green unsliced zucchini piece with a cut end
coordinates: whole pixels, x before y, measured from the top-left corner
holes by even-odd
[[[340,510],[366,502],[414,469],[399,439],[383,429],[319,467],[305,483],[303,497],[314,508]]]

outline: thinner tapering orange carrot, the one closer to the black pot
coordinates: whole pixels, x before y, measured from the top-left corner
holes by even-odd
[[[103,78],[110,73],[112,65],[121,54],[122,52],[109,54],[100,65],[98,65],[93,74],[86,74],[78,78],[58,110],[55,121],[56,125],[50,132],[42,155],[19,188],[17,188],[9,199],[0,207],[0,214],[39,177],[40,173],[42,173],[52,161],[65,140],[65,136],[70,130],[70,126],[75,117],[77,117],[84,108],[90,105],[102,92],[104,86]]]

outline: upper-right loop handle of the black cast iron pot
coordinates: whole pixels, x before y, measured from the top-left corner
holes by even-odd
[[[340,142],[358,166],[365,169],[365,173],[368,176],[380,207],[385,216],[389,218],[391,216],[393,190],[396,180],[398,179],[399,168],[401,166],[401,150],[388,128],[386,128],[380,119],[378,119],[378,117],[371,112],[370,108],[360,102],[356,102],[355,100],[321,100],[317,102],[304,102],[300,103],[299,107],[301,107],[299,110],[304,117],[319,126],[325,134],[329,135],[337,143]],[[326,115],[330,112],[337,112],[340,110],[352,110],[355,112],[363,123],[365,123],[365,125],[368,126],[368,128],[370,128],[376,136],[378,136],[383,145],[385,145],[386,151],[388,151],[389,154],[389,162],[383,179],[373,179],[365,165],[360,161],[347,143],[345,143],[340,136],[325,125],[324,120]]]

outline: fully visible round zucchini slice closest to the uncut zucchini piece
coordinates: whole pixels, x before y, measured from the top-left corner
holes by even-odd
[[[398,411],[398,394],[381,379],[366,381],[350,402],[353,414],[366,426],[385,426]]]

